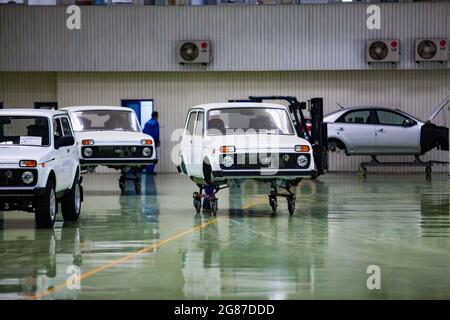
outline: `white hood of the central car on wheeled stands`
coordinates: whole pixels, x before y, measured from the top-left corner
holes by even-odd
[[[243,134],[227,136],[206,136],[204,146],[210,148],[220,148],[221,146],[235,146],[239,149],[292,149],[296,145],[311,146],[308,141],[295,135],[262,135]]]

